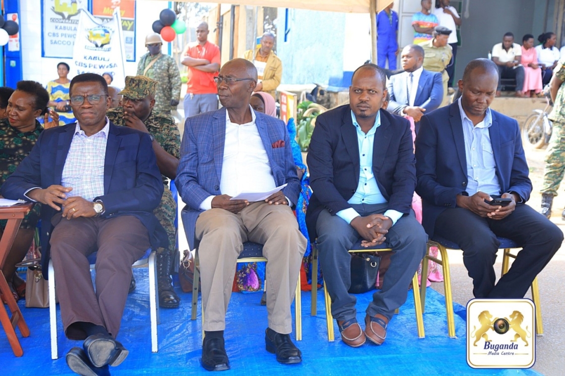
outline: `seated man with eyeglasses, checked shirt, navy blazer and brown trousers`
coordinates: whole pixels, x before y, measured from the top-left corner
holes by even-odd
[[[77,122],[42,132],[28,158],[2,185],[2,195],[41,202],[42,269],[53,260],[67,338],[78,374],[109,374],[128,350],[120,329],[132,264],[149,247],[167,247],[153,215],[163,182],[148,134],[106,117],[106,80],[75,76],[69,96]],[[95,286],[87,256],[97,251]]]

